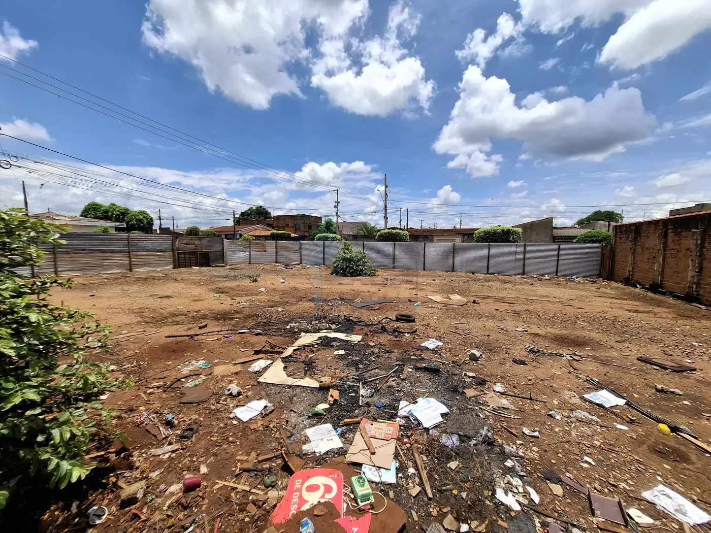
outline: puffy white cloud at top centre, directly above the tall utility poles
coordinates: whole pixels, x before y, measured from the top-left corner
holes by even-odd
[[[385,36],[324,39],[311,84],[334,105],[357,114],[385,117],[417,106],[427,112],[434,81],[426,80],[419,58],[409,55],[400,41],[414,36],[418,25],[419,16],[400,0],[390,6]]]

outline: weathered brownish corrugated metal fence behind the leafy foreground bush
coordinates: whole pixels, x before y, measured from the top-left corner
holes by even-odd
[[[77,276],[173,268],[173,237],[126,233],[66,233],[65,243],[42,244],[38,276]],[[31,274],[22,269],[21,274]]]

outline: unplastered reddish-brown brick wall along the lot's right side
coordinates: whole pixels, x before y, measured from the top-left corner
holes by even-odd
[[[711,212],[613,227],[615,281],[711,305]]]

